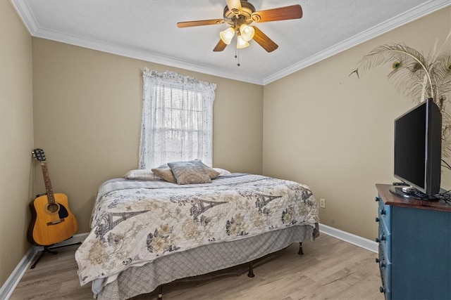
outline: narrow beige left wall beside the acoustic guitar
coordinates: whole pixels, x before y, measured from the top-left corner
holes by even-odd
[[[31,36],[0,1],[0,286],[30,245],[33,103]]]

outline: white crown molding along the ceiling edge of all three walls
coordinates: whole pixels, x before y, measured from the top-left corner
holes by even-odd
[[[304,69],[305,67],[309,67],[314,63],[318,63],[321,60],[329,58],[330,56],[334,56],[342,51],[345,51],[353,46],[357,46],[358,44],[362,44],[364,41],[368,41],[369,39],[373,39],[374,37],[378,37],[385,32],[393,30],[401,25],[407,24],[408,22],[412,22],[418,18],[423,17],[424,15],[428,15],[435,11],[440,10],[441,8],[445,8],[447,6],[451,6],[451,2],[449,0],[430,0],[426,3],[417,6],[409,11],[406,11],[400,15],[397,15],[395,18],[391,18],[386,22],[383,22],[375,27],[370,28],[360,34],[355,35],[350,39],[346,39],[330,48],[327,48],[319,53],[316,53],[314,56],[310,56],[307,59],[299,61],[295,65],[287,67],[279,72],[272,74],[269,77],[265,77],[263,79],[253,78],[253,77],[245,77],[237,74],[232,74],[229,72],[223,72],[221,70],[217,70],[212,67],[208,67],[206,65],[199,65],[194,63],[188,63],[183,60],[176,60],[173,58],[167,58],[164,56],[155,55],[149,53],[147,51],[140,51],[132,48],[127,48],[123,46],[117,46],[114,44],[105,43],[103,41],[94,41],[81,37],[71,36],[70,34],[65,34],[63,32],[56,32],[52,30],[45,30],[39,28],[30,7],[27,4],[27,1],[20,0],[10,0],[13,7],[16,9],[20,19],[27,27],[27,30],[30,32],[32,37],[39,37],[42,39],[50,39],[52,41],[59,41],[65,44],[71,44],[74,46],[80,46],[83,48],[90,48],[97,51],[102,51],[106,53],[116,54],[118,56],[125,56],[128,58],[135,58],[139,60],[145,60],[151,63],[157,63],[161,65],[167,65],[169,67],[178,67],[184,70],[190,70],[193,72],[199,72],[203,74],[214,75],[218,77],[233,79],[237,81],[248,82],[251,84],[259,84],[266,85],[270,84],[273,81],[281,79],[289,74],[297,72],[299,70]]]

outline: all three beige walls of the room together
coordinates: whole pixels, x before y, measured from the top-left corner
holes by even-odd
[[[8,1],[0,13],[0,285],[30,246],[27,204],[44,192],[32,148],[44,149],[79,233],[89,230],[99,184],[136,168],[143,67],[217,84],[216,167],[306,183],[326,199],[321,223],[372,240],[374,183],[395,181],[393,119],[413,104],[383,67],[348,74],[375,46],[404,41],[427,53],[451,27],[445,8],[262,87],[32,39]]]

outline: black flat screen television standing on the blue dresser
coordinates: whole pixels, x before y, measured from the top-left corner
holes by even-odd
[[[402,197],[433,199],[440,192],[442,115],[433,99],[395,119],[395,178],[409,188],[393,188]]]

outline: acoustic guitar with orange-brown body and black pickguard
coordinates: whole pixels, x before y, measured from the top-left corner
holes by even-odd
[[[78,222],[70,212],[68,197],[54,193],[51,188],[49,170],[42,149],[33,150],[33,157],[41,163],[46,194],[37,195],[30,202],[32,221],[28,228],[28,241],[31,244],[49,246],[72,237],[78,229]]]

